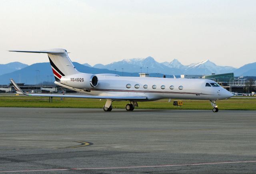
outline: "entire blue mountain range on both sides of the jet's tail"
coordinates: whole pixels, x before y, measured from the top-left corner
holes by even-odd
[[[246,64],[240,68],[231,66],[218,66],[209,60],[190,65],[182,65],[177,59],[171,62],[158,63],[153,57],[124,59],[108,65],[96,64],[93,67],[88,63],[74,62],[77,70],[85,73],[101,74],[110,73],[120,76],[139,76],[139,72],[149,72],[152,77],[179,77],[180,74],[204,75],[234,72],[235,76],[256,76],[256,62]],[[124,68],[122,70],[122,68]],[[2,73],[2,74],[1,74]],[[38,84],[42,82],[54,82],[54,76],[50,63],[35,63],[30,66],[14,62],[0,65],[0,84],[9,84],[10,78],[16,82],[25,84]]]

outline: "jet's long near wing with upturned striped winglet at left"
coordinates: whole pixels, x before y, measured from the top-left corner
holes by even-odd
[[[88,95],[61,95],[61,94],[31,94],[24,93],[20,87],[10,78],[17,94],[24,94],[26,96],[41,96],[41,97],[71,97],[71,98],[93,98],[93,99],[109,99],[109,100],[148,100],[146,96],[88,96]]]

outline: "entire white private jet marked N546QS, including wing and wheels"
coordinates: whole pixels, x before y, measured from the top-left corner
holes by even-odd
[[[87,74],[76,70],[65,49],[44,51],[14,51],[25,53],[47,53],[55,84],[88,95],[26,94],[10,79],[16,92],[26,96],[74,97],[106,99],[104,111],[112,110],[112,101],[129,101],[127,111],[138,107],[138,101],[160,99],[210,100],[213,109],[218,112],[216,100],[228,99],[230,92],[208,79],[123,77],[117,74]]]

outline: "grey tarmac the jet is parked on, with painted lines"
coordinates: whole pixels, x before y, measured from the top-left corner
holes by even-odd
[[[256,173],[256,111],[0,108],[0,173]]]

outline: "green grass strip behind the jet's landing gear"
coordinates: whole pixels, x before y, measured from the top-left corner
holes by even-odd
[[[212,109],[210,101],[207,100],[182,100],[183,106],[173,106],[173,101],[168,99],[153,102],[138,102],[138,109]],[[48,97],[28,96],[0,96],[0,107],[22,107],[22,108],[102,108],[106,100],[83,99],[83,98],[53,98],[49,103]],[[113,108],[124,109],[129,102],[112,102]],[[228,100],[216,101],[221,110],[256,110],[255,98],[230,98]]]

